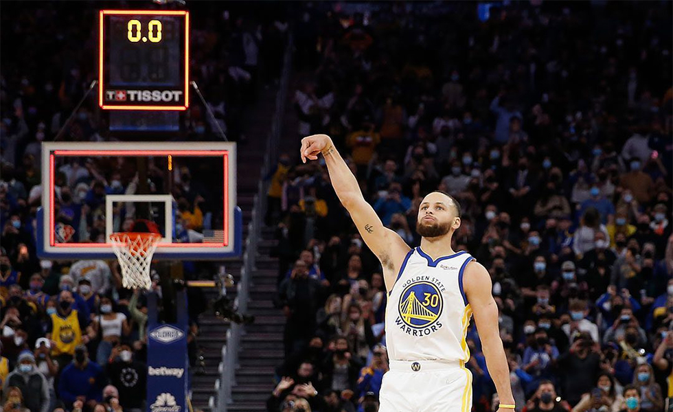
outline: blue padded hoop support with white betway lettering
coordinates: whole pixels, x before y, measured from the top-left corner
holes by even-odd
[[[180,295],[180,294],[179,294]],[[182,299],[180,299],[182,298]],[[154,308],[148,299],[148,314]],[[186,304],[180,296],[179,302]],[[183,309],[184,308],[184,309]],[[187,312],[186,305],[180,312]],[[147,412],[188,412],[187,322],[157,324],[150,321],[147,339]]]

